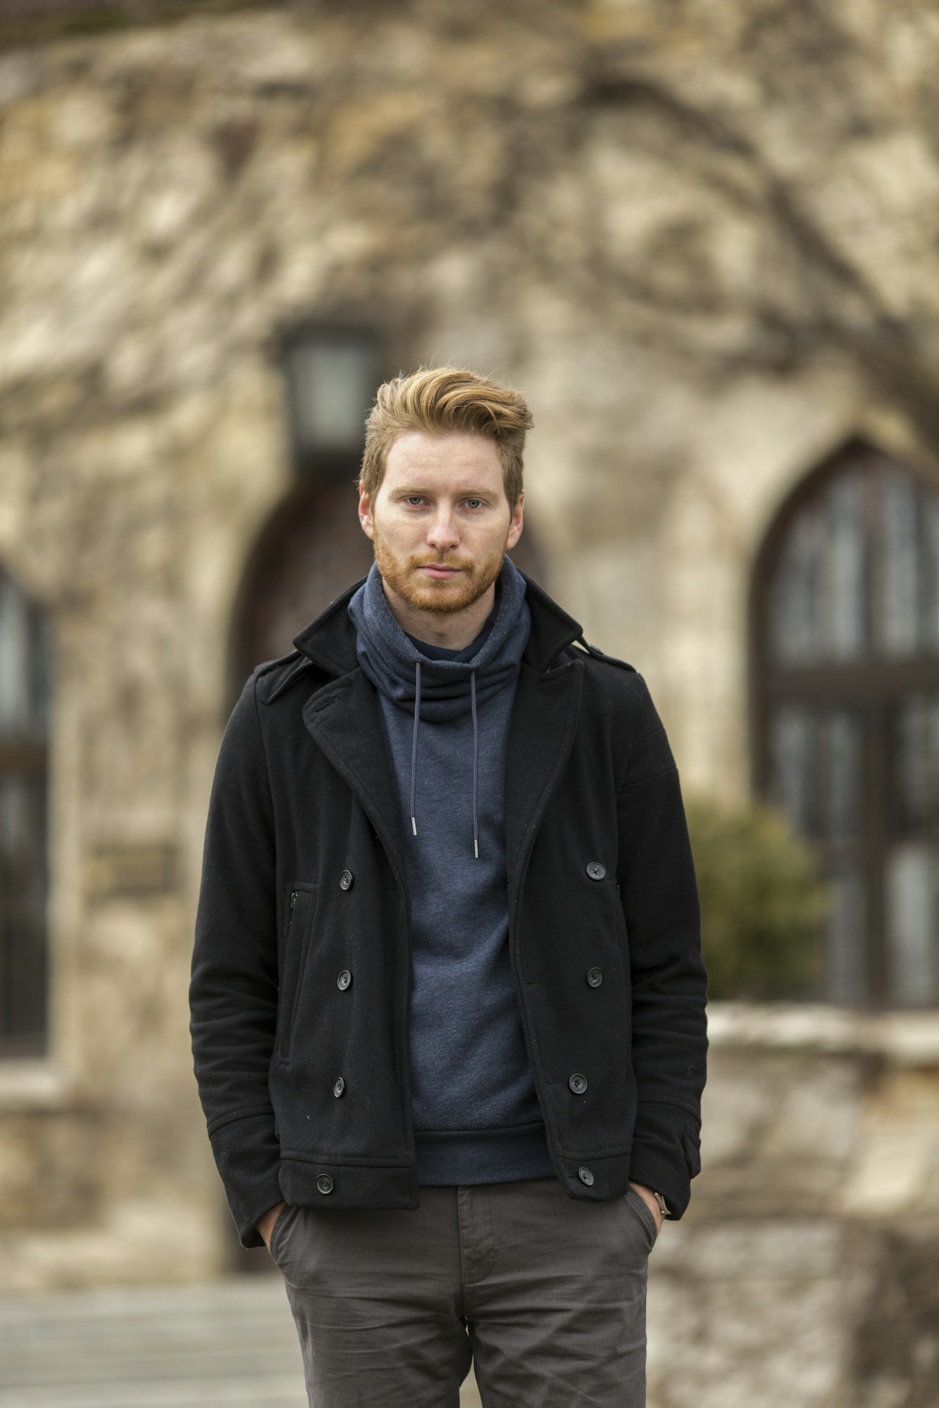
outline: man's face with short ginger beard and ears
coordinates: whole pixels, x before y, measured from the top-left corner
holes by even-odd
[[[358,517],[385,587],[417,611],[462,611],[488,591],[522,534],[522,500],[505,497],[502,460],[485,435],[407,431],[388,452]]]

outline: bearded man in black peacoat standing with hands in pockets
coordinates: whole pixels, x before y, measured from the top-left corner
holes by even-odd
[[[486,1405],[639,1408],[647,1257],[699,1170],[678,774],[642,676],[505,556],[530,425],[471,372],[379,389],[375,565],[219,758],[196,1074],[317,1408],[455,1408],[471,1360]]]

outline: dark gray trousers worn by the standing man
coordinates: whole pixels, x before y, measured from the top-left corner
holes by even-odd
[[[420,1208],[286,1207],[271,1255],[310,1408],[644,1408],[656,1219],[557,1178],[420,1190]]]

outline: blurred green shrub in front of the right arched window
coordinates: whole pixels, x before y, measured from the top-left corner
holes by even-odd
[[[708,991],[771,1001],[816,995],[829,908],[811,846],[774,808],[687,804]]]

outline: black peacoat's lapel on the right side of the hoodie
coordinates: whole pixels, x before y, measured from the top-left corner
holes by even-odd
[[[505,855],[512,890],[574,745],[584,681],[582,660],[546,674],[522,665],[509,727],[505,773]]]

